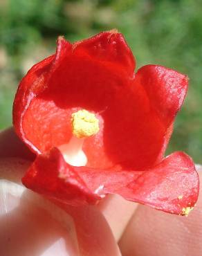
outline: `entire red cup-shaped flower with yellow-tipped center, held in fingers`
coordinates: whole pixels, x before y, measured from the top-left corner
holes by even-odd
[[[106,194],[187,215],[199,194],[192,159],[164,158],[187,77],[163,66],[134,73],[134,56],[115,30],[55,55],[19,84],[13,123],[37,154],[22,179],[49,199],[79,205]]]

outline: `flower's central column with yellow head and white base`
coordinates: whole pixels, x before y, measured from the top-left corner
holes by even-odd
[[[84,166],[88,159],[82,150],[85,138],[98,133],[99,120],[94,113],[85,109],[72,114],[71,126],[73,136],[68,144],[59,147],[66,163],[73,166]]]

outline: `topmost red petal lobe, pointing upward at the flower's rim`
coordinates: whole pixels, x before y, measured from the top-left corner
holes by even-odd
[[[103,65],[121,68],[127,75],[134,77],[135,59],[125,38],[116,30],[102,32],[94,37],[76,42],[73,45],[76,54],[87,54]]]

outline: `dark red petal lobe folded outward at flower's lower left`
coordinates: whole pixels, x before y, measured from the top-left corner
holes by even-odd
[[[84,181],[66,162],[58,149],[37,156],[22,179],[31,190],[62,203],[81,205],[96,203],[100,196],[93,194]]]

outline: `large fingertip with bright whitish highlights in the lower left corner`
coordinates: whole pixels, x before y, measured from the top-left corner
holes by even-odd
[[[73,219],[20,184],[28,164],[0,159],[0,254],[80,255]]]

